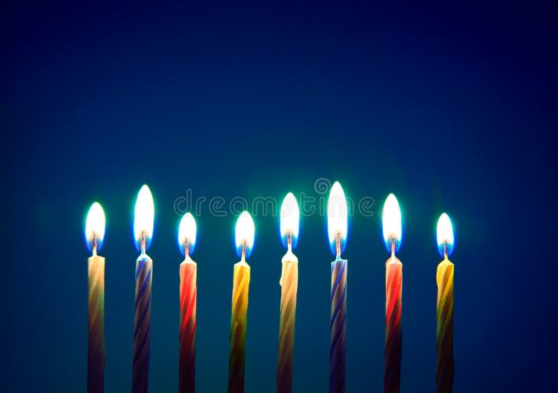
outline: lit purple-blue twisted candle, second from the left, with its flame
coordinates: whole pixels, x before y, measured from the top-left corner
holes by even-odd
[[[134,237],[140,256],[135,261],[135,323],[132,392],[147,392],[149,383],[149,325],[151,323],[151,276],[153,261],[145,252],[153,236],[153,196],[143,185],[135,202]]]

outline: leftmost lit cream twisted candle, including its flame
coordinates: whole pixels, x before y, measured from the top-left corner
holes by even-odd
[[[85,240],[92,255],[87,259],[89,287],[89,345],[87,392],[103,392],[105,385],[105,259],[97,252],[105,237],[105,212],[98,202],[87,213]]]

